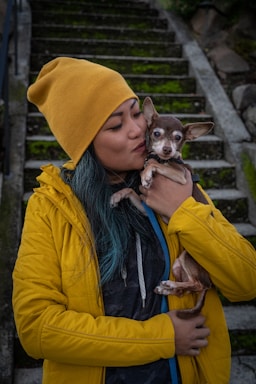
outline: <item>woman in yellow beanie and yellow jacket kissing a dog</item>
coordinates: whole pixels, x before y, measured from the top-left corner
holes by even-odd
[[[228,383],[230,345],[216,289],[193,319],[175,312],[194,305],[192,294],[169,297],[161,313],[159,239],[128,200],[111,208],[110,197],[124,186],[140,193],[158,214],[171,264],[186,248],[229,300],[256,295],[253,247],[210,199],[202,205],[191,197],[190,175],[185,185],[156,175],[149,190],[140,186],[146,123],[117,72],[57,58],[28,98],[71,158],[61,170],[42,168],[13,273],[17,331],[27,353],[44,359],[43,383],[175,383],[175,355],[179,382]]]

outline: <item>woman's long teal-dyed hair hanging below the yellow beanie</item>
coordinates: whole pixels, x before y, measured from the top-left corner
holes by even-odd
[[[70,177],[62,171],[64,181],[83,204],[90,220],[100,266],[101,284],[110,281],[116,272],[121,273],[135,231],[154,249],[152,231],[145,218],[129,200],[111,208],[110,197],[118,189],[131,187],[138,192],[139,172],[130,172],[122,185],[109,185],[107,172],[97,161],[91,146],[82,156]]]

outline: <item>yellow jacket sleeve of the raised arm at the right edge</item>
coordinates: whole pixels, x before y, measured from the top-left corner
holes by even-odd
[[[256,297],[256,251],[206,197],[209,205],[188,198],[173,214],[168,233],[178,236],[226,298],[252,300]]]

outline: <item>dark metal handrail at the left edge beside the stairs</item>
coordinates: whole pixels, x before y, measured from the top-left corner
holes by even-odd
[[[20,0],[21,8],[21,0]],[[5,175],[10,173],[10,124],[9,124],[9,73],[8,73],[8,51],[11,31],[12,17],[14,19],[14,59],[15,75],[18,73],[18,7],[17,0],[8,0],[4,19],[3,36],[0,47],[0,99],[3,101],[3,127],[0,130],[0,159],[2,158],[2,169]],[[0,127],[1,128],[1,127]]]

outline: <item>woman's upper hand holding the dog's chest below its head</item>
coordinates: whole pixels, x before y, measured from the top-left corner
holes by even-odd
[[[165,176],[155,174],[150,188],[140,186],[141,200],[168,220],[179,206],[192,195],[191,173],[185,169],[186,184],[179,184]]]

